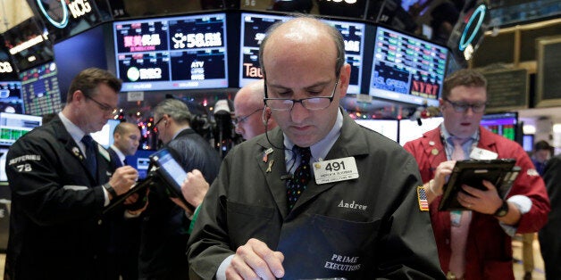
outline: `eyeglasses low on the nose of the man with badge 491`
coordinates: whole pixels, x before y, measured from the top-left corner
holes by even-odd
[[[267,95],[267,82],[265,80],[264,92]],[[337,75],[337,80],[335,81],[335,86],[331,91],[331,96],[319,96],[319,97],[308,97],[302,99],[288,99],[288,98],[264,98],[264,102],[269,108],[275,111],[290,111],[294,107],[295,103],[300,103],[307,110],[323,110],[330,106],[333,102],[333,97],[335,96],[335,90],[339,85],[339,75]]]

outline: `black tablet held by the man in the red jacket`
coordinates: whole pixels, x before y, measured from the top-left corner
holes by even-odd
[[[456,161],[448,183],[444,185],[439,210],[466,210],[457,202],[458,192],[464,192],[462,185],[486,190],[482,180],[490,181],[497,187],[498,196],[505,198],[520,172],[515,163],[514,159]]]

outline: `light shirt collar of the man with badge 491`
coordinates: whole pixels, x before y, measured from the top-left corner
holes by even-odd
[[[343,114],[341,113],[340,109],[337,114],[337,119],[335,120],[335,124],[331,131],[327,134],[327,136],[323,137],[322,140],[318,141],[316,144],[310,146],[310,152],[312,152],[312,159],[310,163],[319,161],[320,159],[323,160],[327,156],[327,153],[330,152],[331,147],[335,144],[335,141],[341,135],[341,128],[343,127]],[[289,137],[283,133],[284,136],[284,160],[287,167],[287,172],[294,173],[294,170],[297,169],[296,164],[294,164],[297,159],[294,157],[294,153],[292,152],[292,148],[294,147],[294,143],[290,141]]]

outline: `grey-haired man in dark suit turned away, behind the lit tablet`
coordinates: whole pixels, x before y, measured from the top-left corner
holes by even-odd
[[[213,182],[222,159],[205,138],[190,127],[191,113],[179,99],[165,99],[154,109],[155,129],[185,171],[200,170],[201,177]],[[192,206],[203,201],[208,185],[197,185],[185,197]],[[164,187],[150,187],[147,209],[142,213],[142,236],[138,259],[139,279],[188,279],[185,255],[188,228],[193,212],[172,202]],[[186,215],[186,211],[187,214]]]

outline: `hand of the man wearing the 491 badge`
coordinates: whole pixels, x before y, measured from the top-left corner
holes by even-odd
[[[284,276],[280,251],[272,251],[257,239],[249,239],[239,246],[230,266],[226,268],[227,279],[277,279]]]

